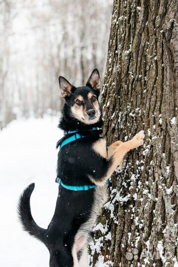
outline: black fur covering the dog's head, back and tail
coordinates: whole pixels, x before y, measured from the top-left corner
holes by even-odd
[[[76,96],[82,95],[87,101],[89,92],[93,92],[98,98],[99,91],[92,89],[89,84],[85,87],[72,88],[71,95],[65,98],[66,102],[59,123],[60,129],[77,130],[86,135],[65,145],[58,153],[57,176],[67,185],[92,185],[88,175],[95,180],[100,180],[111,164],[111,161],[102,158],[92,149],[93,143],[100,138],[100,132],[90,130],[93,127],[102,126],[102,115],[93,125],[86,125],[71,116],[71,107],[74,105]],[[88,109],[91,108],[89,104]],[[67,137],[69,135],[59,140],[57,147]],[[73,267],[71,250],[74,238],[80,226],[89,219],[94,201],[94,189],[71,191],[59,186],[54,216],[47,229],[39,227],[31,215],[30,196],[33,189],[34,183],[24,190],[18,205],[24,229],[45,243],[50,253],[50,267]]]

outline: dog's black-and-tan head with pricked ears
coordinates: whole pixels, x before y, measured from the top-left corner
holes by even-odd
[[[95,124],[100,120],[101,111],[98,97],[101,81],[97,69],[91,73],[86,86],[75,87],[60,76],[59,87],[70,117],[87,125]]]

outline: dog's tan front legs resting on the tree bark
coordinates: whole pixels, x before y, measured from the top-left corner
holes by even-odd
[[[134,138],[130,141],[123,142],[123,143],[117,143],[115,142],[114,144],[111,145],[111,149],[108,155],[108,159],[111,157],[113,158],[113,162],[111,167],[109,168],[107,174],[105,177],[103,177],[100,181],[94,180],[91,176],[89,176],[90,180],[94,182],[96,185],[102,186],[105,184],[106,180],[112,175],[114,170],[119,166],[120,168],[122,167],[123,164],[123,159],[126,153],[128,153],[131,149],[134,149],[140,145],[143,144],[143,138],[144,138],[144,133],[143,131],[140,131],[138,134],[134,136]]]

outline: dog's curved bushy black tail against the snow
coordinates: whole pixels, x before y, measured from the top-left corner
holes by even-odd
[[[30,197],[34,190],[35,183],[31,183],[21,194],[18,203],[18,214],[19,219],[23,225],[25,231],[29,232],[30,235],[35,236],[44,242],[44,236],[46,229],[41,228],[35,223],[30,209]]]

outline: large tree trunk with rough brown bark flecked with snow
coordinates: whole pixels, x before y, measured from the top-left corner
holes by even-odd
[[[178,0],[114,0],[102,104],[108,145],[145,144],[112,176],[93,267],[178,267]]]

